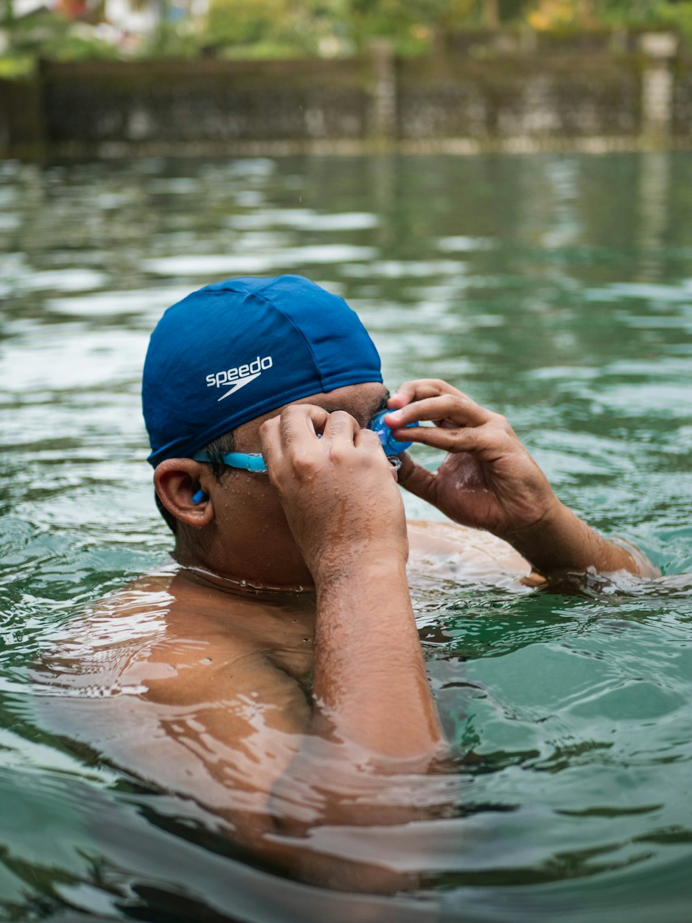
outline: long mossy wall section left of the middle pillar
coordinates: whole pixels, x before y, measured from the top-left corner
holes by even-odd
[[[156,61],[44,65],[46,137],[99,153],[241,141],[363,138],[358,62]]]

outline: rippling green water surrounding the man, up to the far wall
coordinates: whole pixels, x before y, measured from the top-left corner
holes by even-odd
[[[415,600],[462,803],[400,898],[252,867],[55,739],[27,671],[165,557],[139,370],[164,307],[234,274],[344,294],[390,387],[507,414],[568,505],[692,572],[691,214],[682,153],[0,164],[2,918],[686,923],[692,577]]]

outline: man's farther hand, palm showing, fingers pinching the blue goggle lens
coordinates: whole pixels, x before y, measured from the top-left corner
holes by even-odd
[[[395,438],[449,454],[436,472],[408,456],[400,483],[461,525],[506,538],[531,529],[559,506],[545,475],[504,416],[485,410],[445,381],[409,381],[388,402]],[[400,409],[398,409],[400,408]],[[402,429],[416,420],[435,426]]]

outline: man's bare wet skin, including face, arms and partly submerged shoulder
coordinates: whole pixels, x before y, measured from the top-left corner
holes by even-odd
[[[268,475],[217,481],[209,465],[161,462],[179,565],[104,601],[46,664],[87,693],[51,700],[67,735],[189,797],[278,868],[384,892],[410,883],[404,844],[435,850],[407,843],[409,821],[454,800],[435,774],[444,739],[412,617],[410,548],[413,592],[435,568],[439,580],[460,567],[518,584],[531,565],[517,545],[548,574],[564,561],[644,567],[562,508],[503,418],[441,382],[389,400],[402,408],[392,424],[442,424],[414,437],[451,452],[438,475],[409,459],[402,480],[515,547],[457,525],[407,529],[396,475],[362,428],[386,401],[382,385],[354,385],[239,426],[236,450],[261,450]]]

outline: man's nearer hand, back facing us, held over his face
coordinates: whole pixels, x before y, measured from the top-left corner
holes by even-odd
[[[345,411],[292,404],[262,425],[260,438],[269,480],[316,581],[352,567],[354,557],[406,560],[396,472],[375,433]]]

